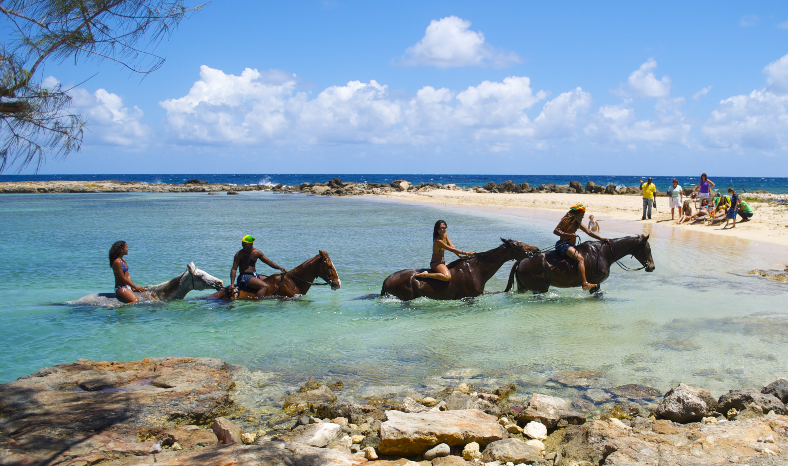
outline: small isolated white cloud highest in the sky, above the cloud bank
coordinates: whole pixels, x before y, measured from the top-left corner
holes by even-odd
[[[407,66],[492,66],[502,68],[522,59],[514,52],[495,50],[485,44],[485,35],[470,31],[470,21],[459,17],[432,20],[424,37],[405,50],[400,63]]]

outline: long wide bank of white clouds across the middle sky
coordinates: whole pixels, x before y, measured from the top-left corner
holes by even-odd
[[[507,150],[518,142],[573,137],[591,96],[581,88],[546,102],[535,120],[526,110],[547,97],[526,76],[483,81],[463,91],[425,86],[395,98],[384,84],[351,81],[314,98],[296,76],[203,66],[182,98],[160,102],[171,135],[183,143],[221,145],[341,143],[424,144],[447,139]]]

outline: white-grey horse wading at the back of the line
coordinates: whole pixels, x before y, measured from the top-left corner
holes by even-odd
[[[203,270],[195,267],[195,263],[188,264],[184,273],[164,283],[146,287],[142,293],[136,292],[139,301],[169,301],[170,299],[183,299],[191,290],[206,290],[214,288],[221,290],[224,283],[215,276],[208,275]],[[66,301],[65,304],[83,304],[100,306],[117,306],[126,304],[115,298],[114,293],[94,293],[88,294],[76,301]]]

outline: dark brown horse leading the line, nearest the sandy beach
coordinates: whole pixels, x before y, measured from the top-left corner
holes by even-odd
[[[589,290],[591,294],[599,291],[599,284],[610,275],[610,266],[624,256],[634,256],[646,272],[653,272],[656,268],[651,257],[649,235],[627,236],[611,239],[609,242],[586,241],[580,246],[575,246],[575,249],[585,260],[586,279],[591,283],[597,283],[596,287]],[[546,293],[551,285],[559,288],[583,285],[577,261],[571,257],[560,257],[556,251],[526,257],[514,264],[509,273],[506,291],[511,290],[515,280],[519,293],[525,290],[531,290],[533,294]]]

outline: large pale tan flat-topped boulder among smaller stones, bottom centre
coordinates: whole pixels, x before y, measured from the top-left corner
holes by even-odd
[[[378,451],[386,455],[420,455],[439,443],[464,446],[490,442],[508,437],[507,431],[490,416],[478,409],[442,412],[386,411],[381,424]]]

